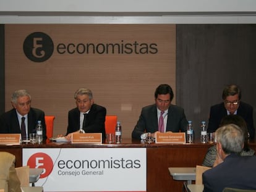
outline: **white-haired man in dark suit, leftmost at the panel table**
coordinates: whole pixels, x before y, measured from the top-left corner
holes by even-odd
[[[36,133],[36,124],[41,120],[43,125],[43,138],[46,140],[45,112],[31,106],[31,96],[26,90],[14,91],[11,98],[12,106],[10,111],[0,117],[0,133],[22,133],[22,117],[25,118],[25,136],[29,138],[30,133]]]

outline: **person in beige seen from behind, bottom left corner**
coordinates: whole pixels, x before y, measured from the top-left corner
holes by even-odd
[[[0,189],[5,192],[21,192],[15,170],[15,156],[9,152],[0,152]]]

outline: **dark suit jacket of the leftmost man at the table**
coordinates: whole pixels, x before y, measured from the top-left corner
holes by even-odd
[[[36,133],[37,121],[41,120],[43,125],[43,138],[46,139],[45,112],[40,109],[30,107],[28,112],[28,136]],[[0,117],[0,133],[21,133],[16,109],[5,112]]]

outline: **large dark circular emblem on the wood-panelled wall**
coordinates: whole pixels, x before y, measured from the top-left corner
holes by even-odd
[[[30,61],[44,62],[53,54],[53,40],[42,32],[31,33],[25,38],[23,51]]]

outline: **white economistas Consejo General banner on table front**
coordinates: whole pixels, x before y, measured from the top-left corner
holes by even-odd
[[[23,148],[44,191],[147,191],[145,148]]]

